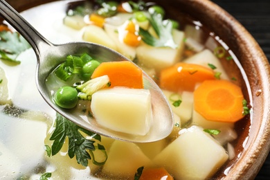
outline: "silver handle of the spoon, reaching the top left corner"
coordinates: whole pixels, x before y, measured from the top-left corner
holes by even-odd
[[[0,0],[0,15],[28,41],[37,55],[40,53],[39,49],[53,45],[3,0]]]

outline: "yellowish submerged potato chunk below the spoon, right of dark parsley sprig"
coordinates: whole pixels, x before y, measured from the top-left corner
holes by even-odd
[[[133,179],[137,169],[147,165],[150,165],[150,159],[143,154],[138,145],[125,141],[114,141],[102,173],[107,176],[114,174],[114,179]]]

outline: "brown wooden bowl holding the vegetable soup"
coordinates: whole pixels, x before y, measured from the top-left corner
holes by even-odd
[[[9,0],[8,3],[18,11],[22,11],[50,1],[52,0]],[[215,179],[254,179],[270,150],[270,65],[267,57],[240,23],[211,1],[154,2],[165,8],[168,17],[179,19],[182,14],[186,14],[200,21],[208,30],[220,37],[239,60],[246,73],[245,78],[249,82],[250,91],[244,93],[250,98],[252,111],[249,123],[244,124],[242,135],[236,143],[237,156],[219,170]]]

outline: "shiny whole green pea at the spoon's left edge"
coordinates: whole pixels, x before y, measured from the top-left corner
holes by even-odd
[[[55,92],[53,100],[59,107],[72,109],[78,103],[78,91],[73,87],[60,87]]]

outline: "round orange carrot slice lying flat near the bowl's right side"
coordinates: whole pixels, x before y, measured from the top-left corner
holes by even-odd
[[[207,120],[234,123],[243,118],[244,96],[228,80],[206,80],[194,91],[195,110]]]

